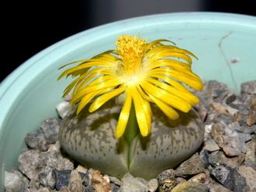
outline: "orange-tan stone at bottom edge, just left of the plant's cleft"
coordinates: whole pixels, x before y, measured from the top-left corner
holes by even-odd
[[[95,191],[111,192],[109,182],[102,177],[99,170],[92,173],[92,187],[95,189]]]

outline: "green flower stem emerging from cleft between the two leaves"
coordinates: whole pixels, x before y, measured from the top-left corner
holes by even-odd
[[[128,146],[131,145],[133,142],[133,139],[140,133],[139,125],[137,123],[135,108],[132,103],[132,106],[130,108],[130,115],[129,119],[126,125],[126,130],[123,133],[123,137],[126,139],[126,142],[128,143]]]

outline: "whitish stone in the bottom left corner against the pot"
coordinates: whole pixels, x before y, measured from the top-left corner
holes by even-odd
[[[22,180],[15,173],[5,171],[5,190],[19,190]]]

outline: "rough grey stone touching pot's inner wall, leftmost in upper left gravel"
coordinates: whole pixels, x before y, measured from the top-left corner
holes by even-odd
[[[48,149],[47,139],[42,130],[27,134],[25,142],[32,149],[40,149],[42,151]]]

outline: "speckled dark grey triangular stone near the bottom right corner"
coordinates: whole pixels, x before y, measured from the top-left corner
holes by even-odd
[[[230,166],[227,166],[227,164],[223,163],[218,166],[209,166],[208,167],[209,172],[216,177],[217,180],[220,181],[220,183],[224,183],[225,180],[227,180],[228,175],[230,174]]]

